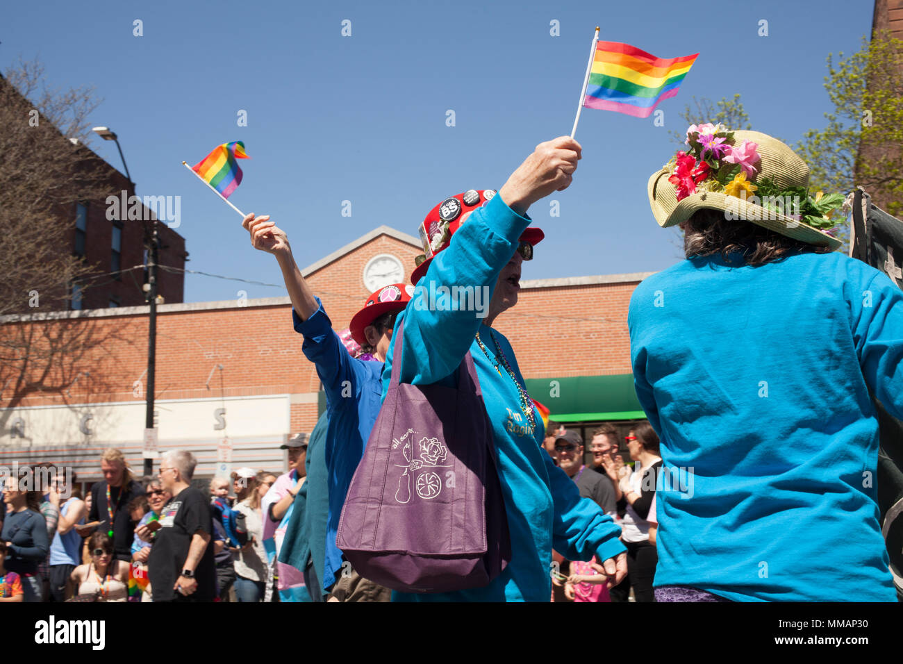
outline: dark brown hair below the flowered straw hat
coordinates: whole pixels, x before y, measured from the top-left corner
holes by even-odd
[[[696,210],[680,228],[684,231],[687,258],[721,254],[727,259],[740,252],[743,265],[761,267],[796,253],[825,254],[832,250],[788,238],[751,221],[725,219],[721,210]]]

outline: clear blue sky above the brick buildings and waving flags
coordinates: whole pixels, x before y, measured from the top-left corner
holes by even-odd
[[[0,69],[37,56],[51,85],[96,87],[94,124],[118,134],[139,195],[182,197],[187,267],[281,283],[275,260],[250,248],[238,215],[182,159],[244,141],[252,159],[230,201],[272,215],[304,267],[380,224],[416,235],[443,198],[500,187],[537,143],[569,134],[597,24],[600,39],[659,57],[699,51],[659,107],[664,127],[585,109],[573,185],[530,209],[546,238],[525,279],[608,275],[681,257],[646,185],[674,153],[668,130],[685,128],[684,103],[740,92],[753,127],[792,144],[824,126],[825,58],[858,50],[871,14],[870,0],[5,3]],[[247,126],[237,126],[241,109]],[[121,169],[114,143],[92,147]],[[185,301],[239,289],[284,293],[188,275]]]

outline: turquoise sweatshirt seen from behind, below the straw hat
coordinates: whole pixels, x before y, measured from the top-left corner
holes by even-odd
[[[903,292],[838,253],[694,258],[638,285],[628,327],[672,478],[655,585],[893,602],[869,390],[903,417]]]

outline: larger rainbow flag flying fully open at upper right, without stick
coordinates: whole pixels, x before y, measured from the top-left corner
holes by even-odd
[[[597,42],[583,106],[649,117],[659,101],[677,94],[698,55],[656,58],[626,43]]]

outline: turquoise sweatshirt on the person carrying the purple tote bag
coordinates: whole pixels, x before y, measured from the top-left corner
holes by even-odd
[[[461,308],[452,311],[451,306],[442,306],[449,304],[442,295],[432,311],[427,305],[429,295],[424,288],[431,281],[436,286],[485,285],[491,295],[498,273],[514,255],[517,240],[528,224],[528,219],[510,210],[498,195],[485,207],[474,210],[452,236],[449,248],[433,258],[402,314],[402,382],[452,385],[453,372],[467,351],[473,357],[493,427],[511,533],[511,562],[484,587],[455,593],[395,593],[396,601],[548,602],[553,547],[570,560],[590,560],[593,555],[605,560],[625,550],[619,542],[620,528],[596,503],[581,498],[577,485],[545,453],[542,419],[537,417],[538,426],[532,435],[526,430],[517,387],[504,368],[501,373],[496,369],[498,360],[491,334],[495,334],[517,380],[524,385],[517,358],[505,336],[483,325],[478,312]],[[475,341],[478,331],[492,360]],[[549,331],[548,339],[554,341],[553,331]],[[393,354],[394,344],[383,370],[384,393],[396,360]]]

